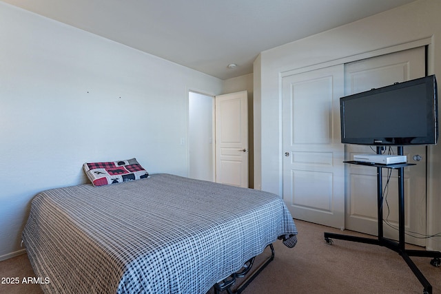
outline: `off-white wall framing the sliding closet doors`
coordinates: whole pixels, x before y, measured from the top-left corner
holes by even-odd
[[[261,52],[256,60],[260,70],[260,92],[254,91],[254,103],[260,104],[261,158],[259,173],[262,189],[281,195],[282,151],[280,142],[280,74],[320,63],[347,59],[358,54],[429,39],[429,74],[441,78],[441,1],[421,0],[329,30],[300,41]],[[257,78],[257,77],[256,77]],[[259,83],[255,82],[256,87]],[[259,149],[256,147],[255,151]],[[428,233],[441,232],[441,147],[429,147]],[[259,185],[256,183],[255,185]],[[295,216],[294,216],[295,217]],[[438,238],[439,239],[439,238]],[[441,241],[431,239],[429,248],[441,249]]]

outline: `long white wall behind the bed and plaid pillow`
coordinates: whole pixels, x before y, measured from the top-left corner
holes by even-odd
[[[83,162],[136,157],[186,176],[187,92],[223,81],[0,2],[0,260],[30,200],[86,182]]]

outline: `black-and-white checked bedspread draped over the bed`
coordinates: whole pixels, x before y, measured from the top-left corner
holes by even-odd
[[[153,174],[43,191],[22,238],[45,293],[207,293],[296,234],[272,193]]]

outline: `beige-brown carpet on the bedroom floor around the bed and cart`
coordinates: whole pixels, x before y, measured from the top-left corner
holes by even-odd
[[[341,233],[318,224],[296,220],[298,243],[293,249],[274,243],[276,257],[250,284],[254,293],[422,293],[422,286],[398,253],[384,247],[334,240],[328,245],[323,232]],[[345,231],[351,235],[362,235]],[[412,249],[418,247],[411,246]],[[263,255],[265,255],[263,253]],[[412,258],[441,293],[441,267],[430,258]],[[33,277],[27,255],[0,262],[0,277]],[[212,291],[210,291],[212,292]],[[35,284],[0,284],[0,293],[41,293]]]

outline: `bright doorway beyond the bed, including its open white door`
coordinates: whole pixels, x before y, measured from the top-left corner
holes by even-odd
[[[189,178],[249,187],[247,91],[188,99]]]

